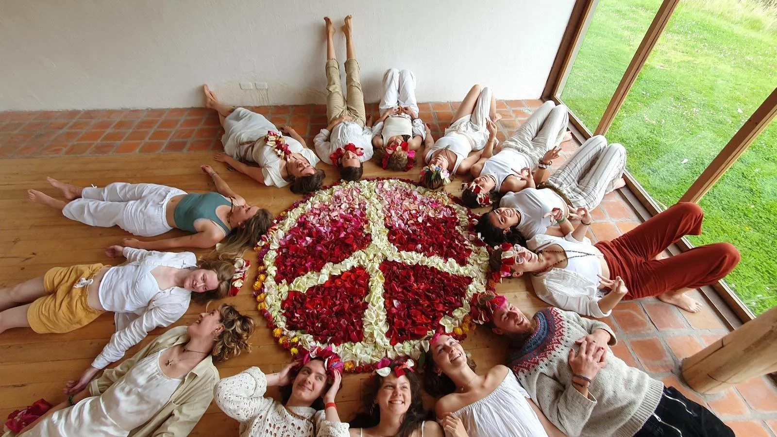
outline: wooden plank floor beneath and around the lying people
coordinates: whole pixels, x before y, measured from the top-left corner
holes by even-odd
[[[106,258],[103,250],[106,246],[120,243],[127,236],[126,232],[72,222],[51,208],[26,200],[29,188],[59,197],[58,191],[47,184],[47,176],[86,186],[126,181],[165,184],[185,191],[209,191],[213,187],[209,185],[209,178],[201,173],[200,165],[211,164],[247,201],[274,213],[299,198],[287,189],[263,187],[242,174],[228,172],[223,164],[214,163],[211,156],[209,152],[191,152],[0,160],[0,287],[40,276],[51,267],[117,263]],[[366,163],[364,167],[365,177],[417,177],[415,169],[409,173],[392,173],[381,170],[373,163]],[[336,172],[328,166],[326,171],[329,176],[325,183],[331,184]],[[458,181],[451,184],[451,189],[455,185]],[[256,260],[255,253],[251,252],[249,259]],[[256,311],[256,302],[249,288],[251,283],[253,273],[249,274],[249,281],[246,281],[246,287],[240,294],[225,299],[225,302],[235,305],[242,313],[256,317],[260,329],[252,338],[254,349],[251,354],[219,365],[221,377],[232,376],[252,365],[260,366],[264,372],[276,372],[291,361],[287,351],[274,343],[270,330],[265,327],[265,320]],[[527,292],[523,281],[510,281],[509,285],[501,287],[500,292],[507,293],[510,301],[525,313],[531,314],[544,306],[533,293]],[[202,310],[202,306],[192,303],[186,316],[176,325],[190,323]],[[0,334],[0,417],[5,418],[11,411],[41,397],[52,403],[64,400],[61,390],[65,381],[78,378],[106,344],[113,329],[113,315],[105,314],[87,327],[68,334],[39,335],[30,329],[8,330]],[[162,332],[154,330],[142,344]],[[503,341],[486,330],[471,334],[464,345],[472,352],[479,369],[488,369],[503,358]],[[131,356],[139,348],[131,349],[126,356]],[[337,399],[343,420],[350,418],[357,407],[360,381],[365,377],[348,375],[343,379],[343,389]],[[236,421],[227,418],[215,404],[211,404],[191,435],[237,435],[237,428]]]

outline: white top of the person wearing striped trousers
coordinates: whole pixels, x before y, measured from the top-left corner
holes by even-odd
[[[566,203],[550,188],[538,190],[526,187],[517,193],[510,191],[499,201],[499,206],[515,208],[521,212],[521,222],[518,223],[517,228],[525,239],[544,234],[556,222],[552,217],[544,217],[553,208],[559,208],[565,216],[568,212]]]

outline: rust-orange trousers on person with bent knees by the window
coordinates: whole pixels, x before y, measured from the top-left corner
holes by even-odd
[[[629,288],[625,299],[710,285],[737,266],[739,251],[730,243],[707,244],[664,260],[653,259],[683,236],[701,234],[702,218],[699,205],[681,202],[616,239],[596,243],[605,254],[610,278],[620,276]]]

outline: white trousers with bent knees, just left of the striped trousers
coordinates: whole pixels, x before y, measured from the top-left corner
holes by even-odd
[[[532,160],[532,169],[536,169],[545,152],[561,144],[569,122],[566,107],[556,106],[556,103],[548,100],[521,124],[513,136],[502,143],[502,149],[509,147],[524,152]]]

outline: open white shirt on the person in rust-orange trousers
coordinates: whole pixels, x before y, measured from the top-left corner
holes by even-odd
[[[556,243],[559,239],[561,238],[558,236],[538,234],[529,239],[526,246],[529,250],[537,250],[538,247]],[[570,232],[563,239],[578,243],[580,251],[593,252],[591,240],[587,237],[580,242]],[[606,317],[611,313],[603,313],[599,308],[599,300],[605,294],[599,289],[598,282],[591,281],[575,271],[553,267],[545,274],[532,274],[531,285],[534,285],[538,298],[560,309],[596,318]]]

